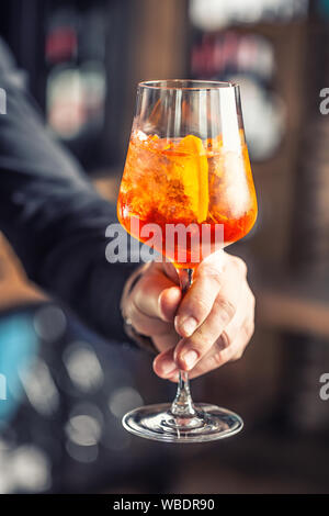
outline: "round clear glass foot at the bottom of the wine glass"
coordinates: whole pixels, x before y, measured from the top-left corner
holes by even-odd
[[[123,426],[136,436],[167,442],[206,442],[224,439],[240,431],[242,419],[226,408],[196,403],[193,417],[177,417],[171,404],[147,405],[128,412]]]

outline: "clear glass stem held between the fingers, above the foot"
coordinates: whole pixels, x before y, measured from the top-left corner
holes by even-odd
[[[178,273],[180,285],[184,294],[192,284],[193,269],[178,269]],[[177,394],[171,404],[170,412],[178,417],[193,417],[196,414],[191,397],[189,374],[186,371],[179,372]]]

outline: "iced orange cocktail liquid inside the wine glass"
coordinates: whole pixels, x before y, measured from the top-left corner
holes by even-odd
[[[121,224],[144,243],[149,238],[146,225],[157,224],[160,238],[154,240],[154,247],[184,268],[194,268],[204,257],[202,253],[193,255],[197,243],[193,233],[201,236],[202,226],[208,228],[207,248],[215,245],[218,225],[223,227],[223,246],[242,238],[254,224],[257,200],[243,132],[239,135],[240,145],[232,150],[226,148],[220,135],[203,141],[191,134],[160,138],[134,131],[117,203]],[[166,246],[169,225],[191,231],[185,240]]]

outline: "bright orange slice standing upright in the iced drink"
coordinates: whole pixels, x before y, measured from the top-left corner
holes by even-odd
[[[180,180],[183,183],[184,193],[190,199],[191,209],[195,213],[197,222],[206,220],[208,213],[208,162],[203,143],[196,136],[189,134],[175,147],[183,157],[177,159],[180,162]]]

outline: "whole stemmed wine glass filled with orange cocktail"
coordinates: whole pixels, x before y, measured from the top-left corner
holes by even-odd
[[[201,259],[251,229],[257,199],[236,83],[138,85],[117,213],[132,236],[172,261],[183,292]],[[202,442],[231,436],[243,423],[226,408],[194,404],[181,371],[171,404],[136,408],[123,425],[154,440]]]

